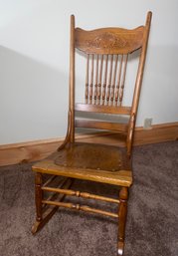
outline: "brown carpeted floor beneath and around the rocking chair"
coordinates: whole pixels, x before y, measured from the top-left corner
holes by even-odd
[[[124,255],[177,256],[178,141],[135,147],[133,170]],[[0,256],[116,255],[117,221],[109,217],[60,209],[33,236],[33,182],[31,164],[0,168]],[[91,188],[117,193],[104,184]]]

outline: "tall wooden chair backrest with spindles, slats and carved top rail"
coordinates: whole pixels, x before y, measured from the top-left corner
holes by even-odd
[[[126,134],[127,153],[131,153],[133,130],[143,77],[147,42],[151,23],[148,12],[145,26],[127,30],[122,28],[100,28],[86,31],[75,27],[75,16],[71,16],[70,52],[70,106],[67,137],[75,141],[75,128],[98,128],[115,130]],[[75,102],[75,55],[76,49],[87,56],[85,103]],[[132,104],[123,106],[122,99],[128,56],[138,51],[138,68]],[[77,120],[76,112],[128,116],[128,123]],[[107,116],[107,115],[106,115]]]

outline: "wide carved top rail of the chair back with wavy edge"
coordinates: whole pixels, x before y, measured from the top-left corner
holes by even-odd
[[[86,31],[76,28],[75,47],[88,54],[129,54],[141,48],[144,27],[127,30],[102,28]]]

